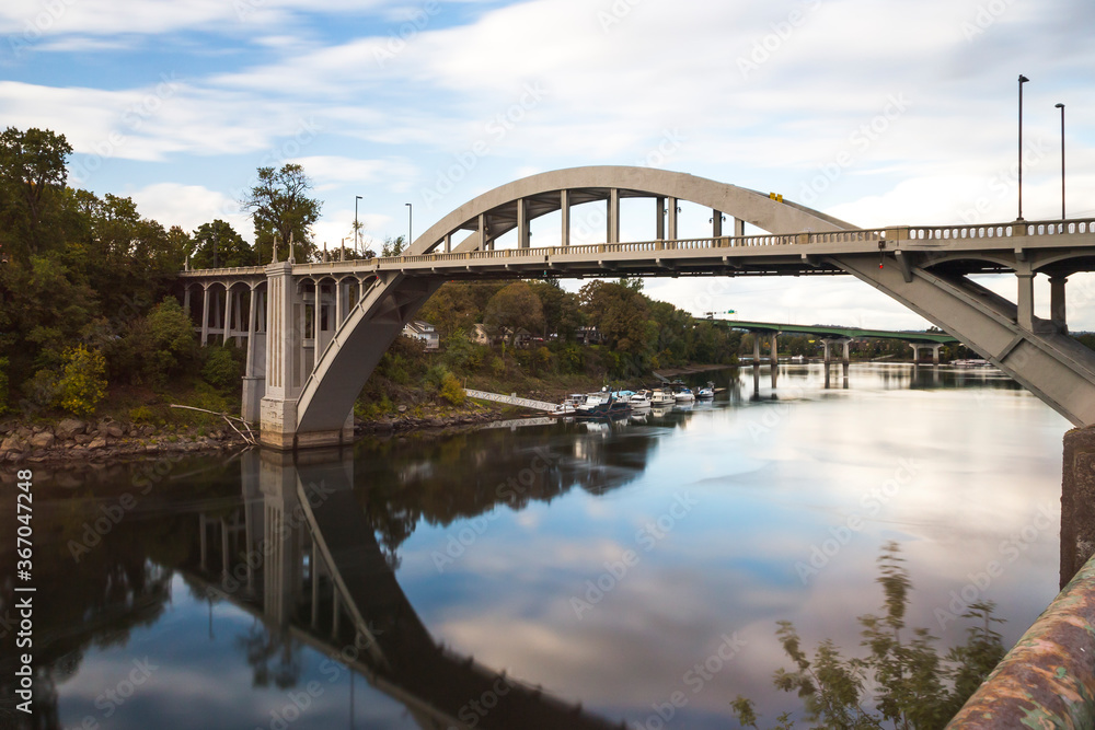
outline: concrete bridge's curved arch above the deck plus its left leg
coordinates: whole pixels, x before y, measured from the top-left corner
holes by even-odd
[[[669,221],[665,235],[659,237],[676,237],[676,201],[680,200],[734,216],[771,233],[852,228],[798,204],[685,173],[650,167],[572,167],[525,177],[480,195],[431,225],[403,256],[425,255],[439,246],[450,251],[482,250],[497,236],[527,227],[534,218],[597,200],[609,206],[608,237],[612,242],[613,225],[616,235],[620,230],[621,198],[662,198],[668,204]],[[659,231],[660,218],[658,215],[656,219]],[[564,215],[563,220],[567,225],[568,216]],[[453,247],[453,237],[461,234],[464,237]],[[564,231],[564,243],[567,235],[568,231]],[[528,245],[527,235],[519,241]],[[322,275],[310,278],[323,280]],[[378,279],[366,292],[315,358],[311,374],[293,398],[295,413],[284,410],[280,416],[284,430],[292,427],[293,445],[349,438],[354,401],[365,382],[404,325],[442,282],[441,277],[391,275]],[[289,441],[283,439],[274,445],[287,447]]]

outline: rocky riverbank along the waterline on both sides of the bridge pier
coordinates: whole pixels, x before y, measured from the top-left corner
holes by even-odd
[[[355,420],[355,434],[383,437],[391,433],[452,428],[474,428],[503,418],[500,410],[479,410],[449,416],[416,417],[395,414],[377,420]],[[126,424],[104,418],[97,421],[65,418],[54,425],[0,422],[0,464],[106,462],[146,454],[210,452],[251,445],[257,432],[237,432],[231,426],[188,427]]]

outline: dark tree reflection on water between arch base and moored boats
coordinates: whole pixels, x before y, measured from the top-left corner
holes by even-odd
[[[598,495],[619,489],[642,474],[656,443],[643,428],[564,428],[364,442],[356,487],[390,561],[419,520],[443,526],[502,506],[520,511],[576,486]]]

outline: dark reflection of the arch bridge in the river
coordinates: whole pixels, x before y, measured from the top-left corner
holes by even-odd
[[[434,640],[354,491],[350,452],[242,460],[243,503],[199,517],[187,580],[262,621],[293,663],[308,646],[406,706],[422,728],[621,727]],[[291,672],[291,670],[290,670]]]

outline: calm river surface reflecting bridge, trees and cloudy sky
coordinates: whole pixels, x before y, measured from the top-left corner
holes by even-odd
[[[988,599],[1010,645],[1057,593],[1049,407],[986,373],[760,374],[613,425],[36,470],[37,727],[728,728],[739,694],[797,707],[776,621],[858,648],[887,541],[945,642]]]

